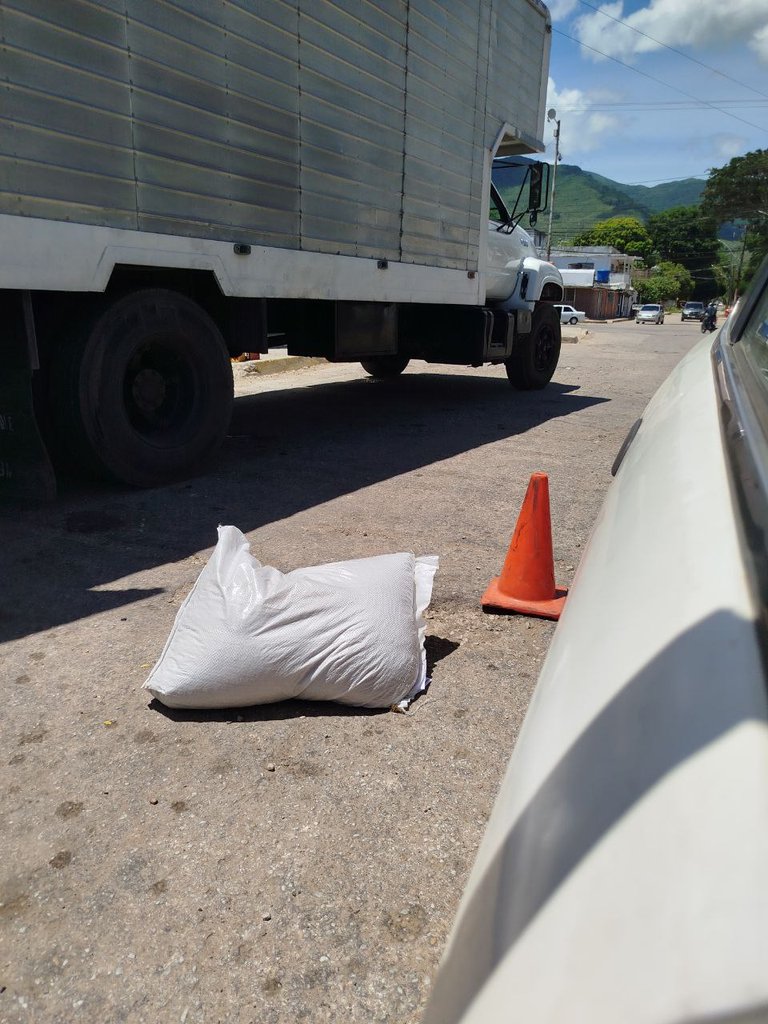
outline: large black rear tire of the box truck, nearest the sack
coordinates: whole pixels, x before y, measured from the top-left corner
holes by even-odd
[[[229,355],[191,299],[132,292],[101,306],[61,348],[54,429],[81,471],[155,486],[188,474],[221,444],[233,401]]]

